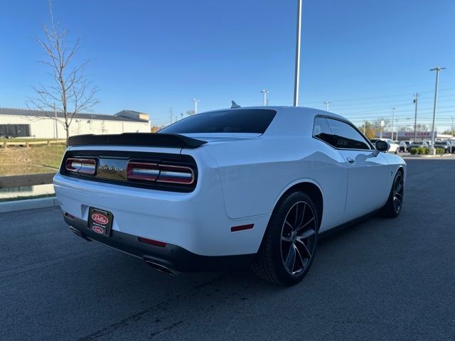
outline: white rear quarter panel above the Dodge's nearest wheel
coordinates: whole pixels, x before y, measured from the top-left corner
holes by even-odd
[[[282,194],[309,182],[323,193],[321,229],[341,224],[348,170],[341,154],[308,136],[281,136],[209,144],[218,164],[230,218],[272,213]]]

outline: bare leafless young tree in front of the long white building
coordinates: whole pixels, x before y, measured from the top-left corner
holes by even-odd
[[[79,50],[80,38],[73,45],[67,43],[67,31],[54,22],[52,4],[49,1],[50,26],[43,24],[44,38],[36,38],[36,42],[45,50],[46,58],[41,60],[49,67],[52,82],[45,86],[33,87],[36,97],[29,98],[34,107],[45,112],[46,116],[63,124],[66,131],[66,142],[70,136],[70,126],[76,114],[84,112],[98,103],[95,99],[97,88],[92,87],[84,75],[88,61],[73,65],[73,59]],[[63,118],[48,113],[63,113]]]

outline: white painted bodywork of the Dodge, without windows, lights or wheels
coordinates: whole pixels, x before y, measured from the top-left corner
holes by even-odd
[[[208,141],[198,148],[70,147],[69,151],[189,155],[196,161],[198,182],[193,192],[176,193],[58,173],[54,187],[60,205],[82,220],[88,220],[89,207],[107,210],[114,216],[114,231],[173,244],[194,254],[254,254],[275,205],[292,186],[312,183],[319,188],[323,197],[320,231],[326,231],[380,208],[395,173],[399,168],[406,171],[399,156],[373,149],[341,150],[314,138],[316,115],[343,119],[336,114],[300,107],[267,109],[277,114],[264,134],[184,134]],[[254,224],[254,228],[231,232],[231,227],[242,224]]]

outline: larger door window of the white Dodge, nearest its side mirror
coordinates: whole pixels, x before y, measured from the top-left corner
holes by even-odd
[[[347,149],[368,149],[370,146],[352,126],[337,119],[327,119],[333,134],[333,146]]]

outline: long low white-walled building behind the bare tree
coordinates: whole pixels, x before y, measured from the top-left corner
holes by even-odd
[[[0,108],[0,137],[65,139],[63,113],[31,109]],[[70,125],[70,136],[80,134],[149,133],[148,114],[122,110],[114,115],[77,114]]]

